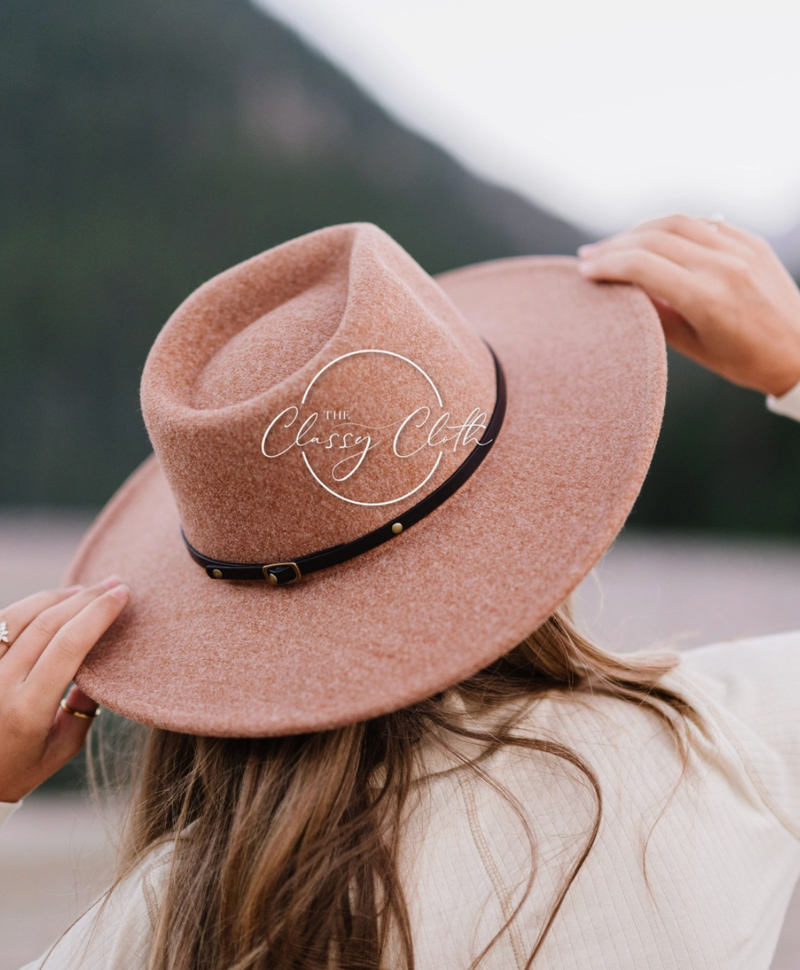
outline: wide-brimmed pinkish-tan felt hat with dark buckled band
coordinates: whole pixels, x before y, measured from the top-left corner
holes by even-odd
[[[144,368],[155,455],[70,569],[132,594],[80,688],[221,736],[337,727],[444,690],[608,548],[665,382],[647,297],[567,258],[433,280],[355,224],[214,277]]]

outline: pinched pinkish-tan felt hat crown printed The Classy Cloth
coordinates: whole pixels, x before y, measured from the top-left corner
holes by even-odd
[[[187,538],[242,563],[292,560],[399,515],[464,462],[495,398],[486,345],[368,224],[209,280],[167,322],[142,381]]]

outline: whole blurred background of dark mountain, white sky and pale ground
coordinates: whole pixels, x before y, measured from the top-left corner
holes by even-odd
[[[369,220],[437,273],[721,212],[800,273],[798,35],[786,0],[0,0],[0,599],[57,582],[148,453],[172,310],[278,242]],[[585,624],[615,649],[800,627],[798,484],[800,424],[671,356]],[[108,876],[82,778],[0,837],[0,970]]]

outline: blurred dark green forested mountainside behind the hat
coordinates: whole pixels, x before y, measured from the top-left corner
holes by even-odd
[[[148,452],[139,378],[171,311],[351,220],[431,273],[587,238],[402,128],[248,0],[0,0],[0,503],[106,501]],[[670,367],[632,523],[800,533],[800,426]]]

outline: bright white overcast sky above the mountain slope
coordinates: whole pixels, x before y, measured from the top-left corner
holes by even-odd
[[[472,171],[600,231],[800,220],[800,0],[258,0]]]

